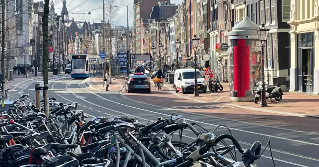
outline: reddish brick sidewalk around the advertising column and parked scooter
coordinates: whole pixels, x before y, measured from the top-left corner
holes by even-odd
[[[268,107],[262,108],[259,107],[259,103],[255,104],[254,102],[230,102],[229,83],[221,84],[224,88],[223,91],[218,91],[216,93],[207,91],[207,94],[200,93],[200,97],[193,97],[192,95],[189,96],[189,94],[182,93],[178,93],[175,95],[192,99],[198,102],[215,102],[248,110],[277,113],[282,115],[294,115],[302,117],[309,116],[319,118],[319,108],[317,107],[319,96],[284,92],[284,96],[281,101],[275,101],[273,99],[273,101],[271,102],[267,100]]]

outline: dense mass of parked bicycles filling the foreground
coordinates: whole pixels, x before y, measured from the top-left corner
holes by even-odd
[[[90,120],[77,102],[49,104],[47,116],[25,94],[1,113],[0,167],[252,167],[263,153],[258,141],[244,149],[233,135],[218,136],[217,128],[209,132],[174,113],[143,124],[128,115]],[[185,129],[196,140],[183,143]]]

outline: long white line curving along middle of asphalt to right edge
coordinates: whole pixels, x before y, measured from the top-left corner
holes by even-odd
[[[82,87],[84,88],[84,87]],[[84,89],[86,90],[86,89]],[[98,94],[95,94],[93,93],[92,91],[90,90],[86,90],[87,92],[91,93],[91,94],[94,94],[95,96],[97,97],[100,97],[106,101],[109,101],[109,102],[113,102],[115,104],[119,104],[119,105],[122,105],[122,106],[126,106],[126,107],[129,107],[129,108],[135,108],[135,109],[138,109],[138,110],[142,110],[142,111],[146,111],[146,112],[150,112],[150,113],[154,113],[154,114],[158,114],[158,115],[166,115],[166,116],[171,116],[171,115],[168,115],[168,114],[163,114],[163,113],[159,113],[159,112],[155,112],[155,111],[150,111],[150,110],[146,110],[146,109],[143,109],[143,108],[138,108],[138,107],[134,107],[134,106],[129,106],[129,105],[126,105],[126,104],[122,104],[122,103],[119,103],[119,102],[116,102],[116,101],[112,101],[112,100],[109,100],[109,99],[106,99]],[[190,121],[190,122],[197,122],[197,123],[202,123],[202,124],[206,124],[206,125],[211,125],[211,126],[215,126],[217,127],[218,125],[216,124],[212,124],[212,123],[207,123],[207,122],[201,122],[201,121],[196,121],[196,120],[192,120],[192,119],[186,119],[187,121]],[[223,127],[225,128],[225,127]],[[247,131],[247,130],[242,130],[242,129],[236,129],[236,128],[229,128],[229,129],[232,129],[232,130],[237,130],[237,131],[241,131],[241,132],[246,132],[246,133],[250,133],[250,134],[255,134],[255,135],[260,135],[260,136],[271,136],[273,138],[277,138],[277,139],[281,139],[281,140],[286,140],[286,141],[291,141],[291,142],[296,142],[296,143],[303,143],[303,144],[308,144],[308,145],[314,145],[314,146],[319,146],[319,144],[316,144],[316,143],[310,143],[310,142],[304,142],[304,141],[300,141],[300,140],[295,140],[295,139],[289,139],[289,138],[285,138],[285,137],[280,137],[280,136],[272,136],[272,135],[267,135],[267,134],[263,134],[263,133],[258,133],[258,132],[251,132],[251,131]]]

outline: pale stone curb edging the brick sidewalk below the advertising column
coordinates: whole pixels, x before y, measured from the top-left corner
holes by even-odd
[[[165,87],[167,87],[167,86],[165,86]],[[289,115],[289,116],[297,116],[297,117],[304,117],[304,118],[319,119],[319,116],[316,116],[316,115],[296,114],[296,113],[289,113],[289,112],[285,112],[285,111],[273,111],[273,110],[268,110],[268,109],[259,109],[259,108],[253,108],[253,107],[245,107],[245,106],[241,106],[241,105],[237,105],[237,104],[227,104],[227,103],[207,102],[207,101],[197,100],[197,99],[185,97],[183,95],[175,93],[173,91],[173,89],[170,88],[170,87],[167,87],[167,88],[170,90],[171,94],[174,94],[174,95],[176,95],[178,97],[181,97],[181,98],[184,98],[184,99],[187,99],[187,100],[197,101],[197,102],[200,102],[200,103],[215,103],[215,104],[227,105],[227,106],[232,106],[232,107],[237,107],[237,108],[243,108],[243,109],[247,109],[247,110],[251,110],[251,111],[258,111],[258,112],[264,112],[264,113],[274,113],[274,114],[280,114],[280,115]]]

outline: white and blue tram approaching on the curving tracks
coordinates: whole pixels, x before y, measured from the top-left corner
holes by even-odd
[[[100,57],[90,54],[71,54],[71,78],[99,75]]]

